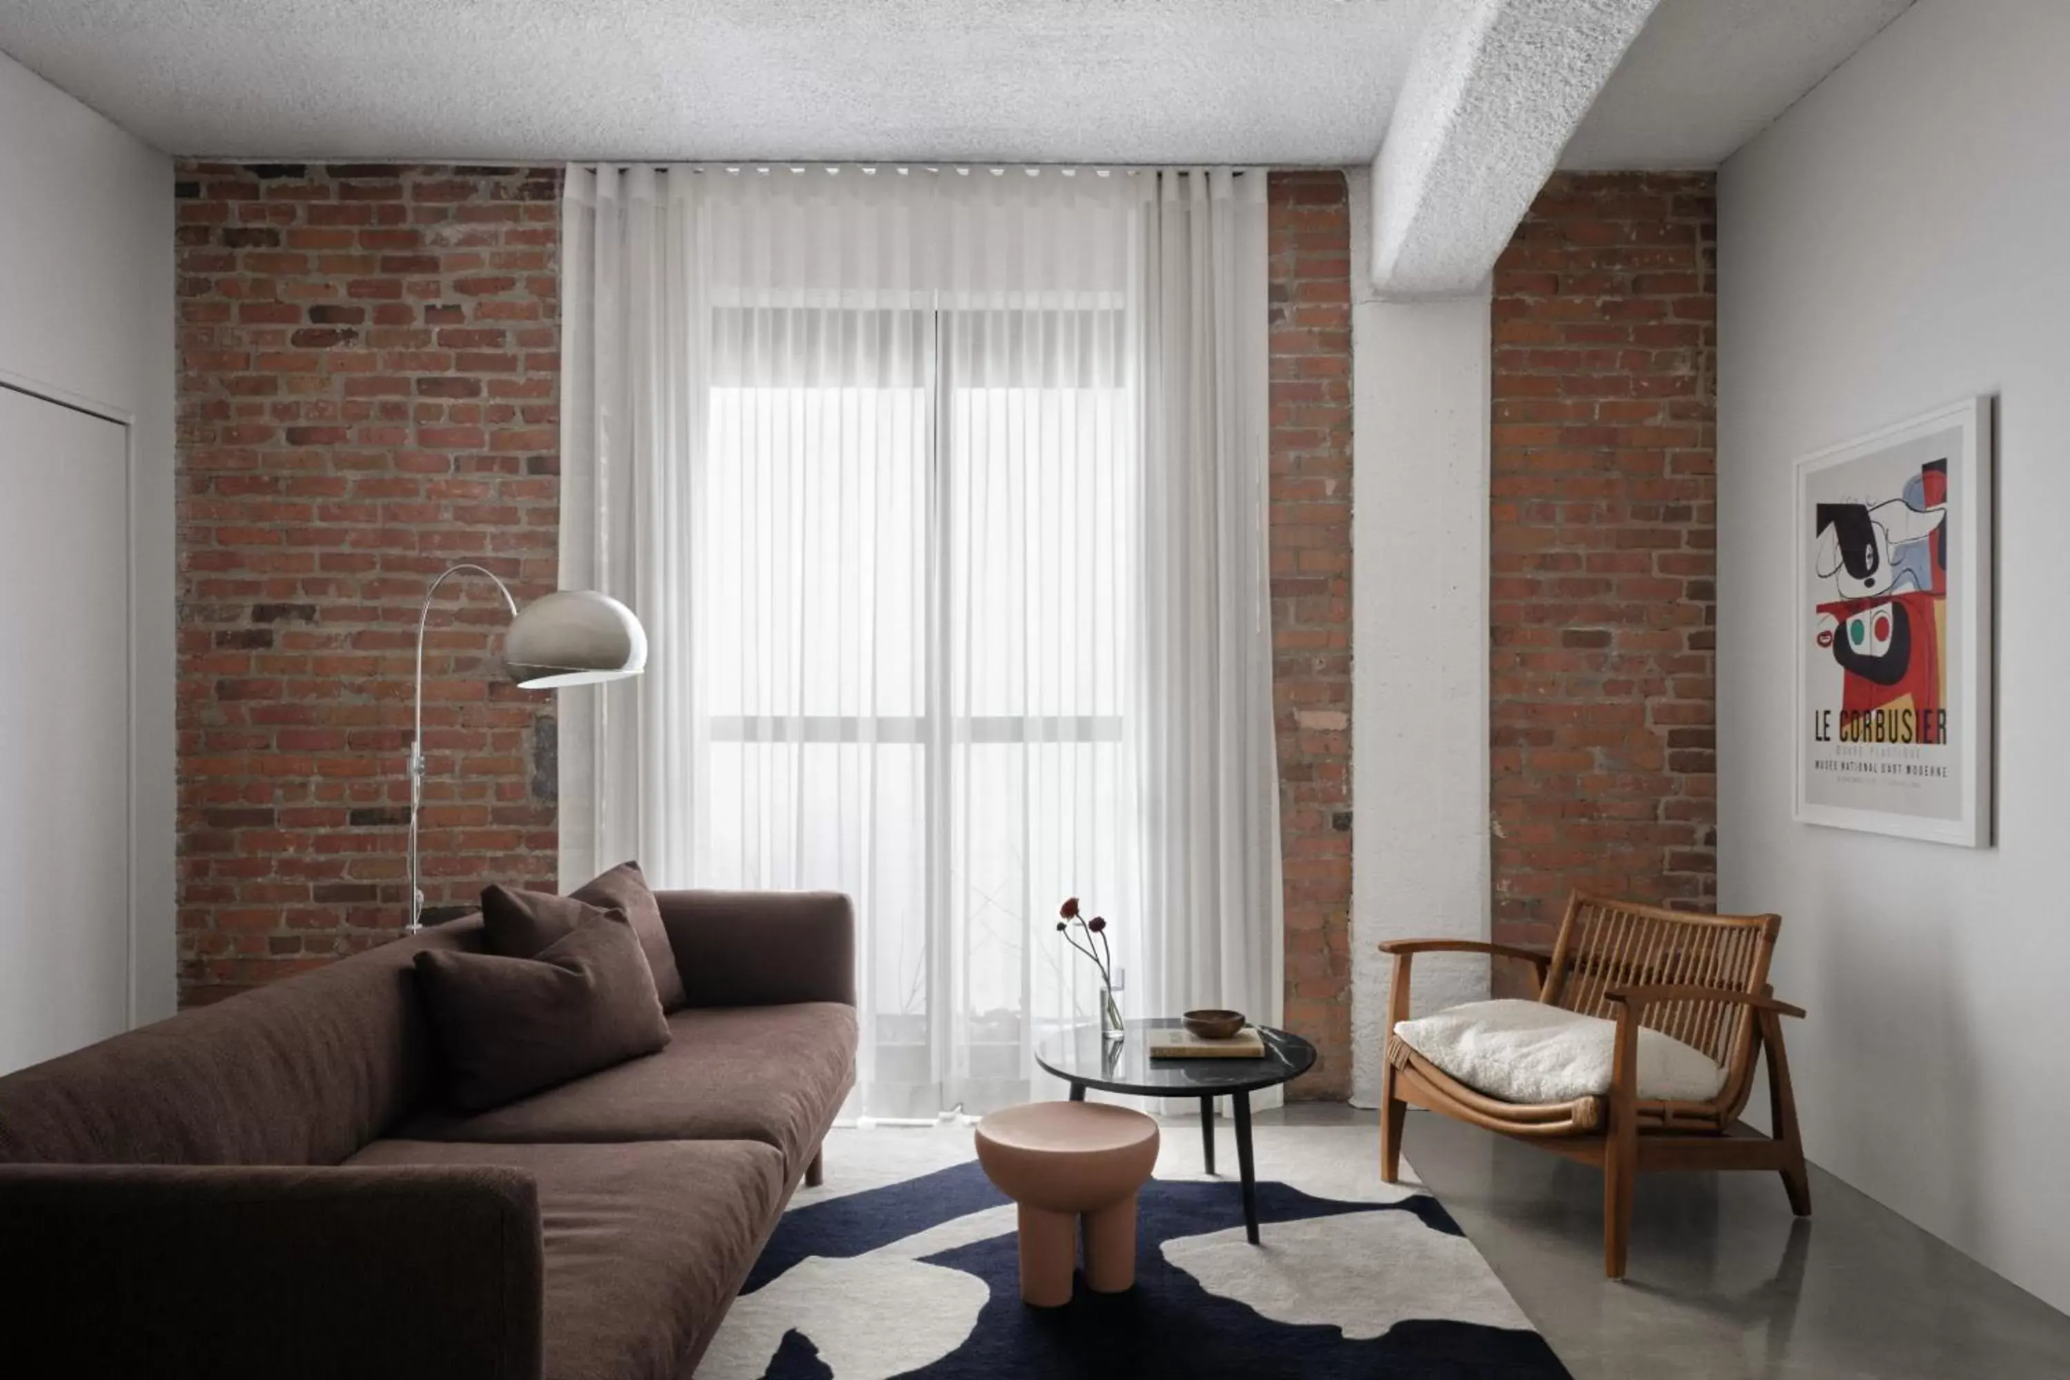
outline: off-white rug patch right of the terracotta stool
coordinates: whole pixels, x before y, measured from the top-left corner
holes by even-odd
[[[1163,1258],[1209,1293],[1273,1322],[1327,1324],[1350,1341],[1379,1337],[1403,1318],[1532,1326],[1466,1237],[1432,1231],[1412,1212],[1269,1223],[1263,1246],[1232,1227],[1165,1241]],[[1377,1270],[1385,1270],[1385,1287],[1374,1287]]]

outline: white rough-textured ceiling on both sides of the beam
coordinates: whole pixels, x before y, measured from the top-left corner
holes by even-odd
[[[1461,0],[0,0],[170,153],[1364,163]],[[1662,0],[1569,145],[1704,168],[1911,0]]]

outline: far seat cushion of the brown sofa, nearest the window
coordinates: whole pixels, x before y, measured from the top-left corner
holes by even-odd
[[[855,1068],[855,1008],[689,1008],[667,1049],[495,1111],[426,1111],[395,1130],[412,1140],[760,1140],[805,1171],[840,1111]]]

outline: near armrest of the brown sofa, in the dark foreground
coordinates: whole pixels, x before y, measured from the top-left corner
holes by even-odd
[[[0,1165],[14,1380],[538,1380],[542,1272],[515,1169]]]

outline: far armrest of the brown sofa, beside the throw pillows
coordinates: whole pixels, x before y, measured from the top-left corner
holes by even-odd
[[[855,906],[840,892],[654,892],[689,1006],[855,1006]]]

